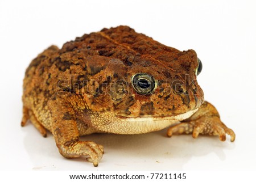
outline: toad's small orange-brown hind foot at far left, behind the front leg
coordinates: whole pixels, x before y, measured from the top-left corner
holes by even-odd
[[[42,134],[43,137],[47,137],[46,129],[36,119],[34,113],[30,109],[23,107],[23,117],[22,117],[21,125],[22,126],[26,125],[28,120],[32,122],[32,124],[35,126],[36,129],[38,129],[38,131]]]

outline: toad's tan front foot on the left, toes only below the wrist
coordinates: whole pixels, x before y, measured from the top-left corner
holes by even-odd
[[[86,156],[86,160],[93,163],[94,167],[98,166],[104,154],[103,146],[91,141],[71,141],[71,143],[66,142],[64,145],[58,147],[60,154],[65,158]]]

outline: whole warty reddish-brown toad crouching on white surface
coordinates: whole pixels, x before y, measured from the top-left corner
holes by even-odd
[[[23,117],[65,158],[84,157],[97,167],[104,147],[81,141],[92,133],[236,134],[204,100],[197,82],[203,64],[195,50],[163,45],[128,26],[104,28],[49,46],[26,69]]]

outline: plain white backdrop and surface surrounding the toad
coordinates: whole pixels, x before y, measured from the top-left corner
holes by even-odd
[[[256,11],[253,1],[0,0],[1,170],[256,170]],[[194,49],[205,99],[237,134],[166,137],[166,129],[134,136],[82,137],[105,147],[101,163],[63,158],[22,118],[22,80],[32,58],[84,33],[128,25],[179,50]]]

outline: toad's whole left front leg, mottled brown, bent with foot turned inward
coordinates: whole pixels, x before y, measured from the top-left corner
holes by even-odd
[[[75,100],[73,100],[75,101]],[[77,103],[76,101],[74,103]],[[86,156],[94,167],[98,166],[104,153],[103,146],[92,141],[80,141],[77,120],[81,120],[78,105],[66,101],[52,100],[49,103],[51,109],[52,133],[61,155],[65,158],[77,158]]]

